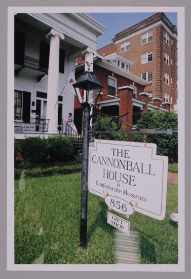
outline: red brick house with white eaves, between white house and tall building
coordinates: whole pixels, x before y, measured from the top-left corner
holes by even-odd
[[[75,66],[76,80],[84,72],[84,59],[85,57],[79,58],[78,64]],[[120,65],[118,61],[120,61]],[[150,83],[129,71],[133,65],[134,62],[118,53],[112,53],[105,57],[95,55],[93,58],[94,73],[103,85],[96,109],[103,114],[113,116],[129,112],[123,119],[131,125],[136,124],[141,112],[148,110],[169,111],[170,109],[169,103],[161,104],[157,98],[150,100],[149,95],[144,92]],[[83,110],[75,97],[74,124],[80,133],[82,123]],[[124,127],[131,129],[125,124]]]

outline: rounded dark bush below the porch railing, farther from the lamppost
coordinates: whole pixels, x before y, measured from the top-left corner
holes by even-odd
[[[49,142],[45,138],[26,137],[20,141],[20,153],[24,162],[41,163],[44,162],[49,154]]]

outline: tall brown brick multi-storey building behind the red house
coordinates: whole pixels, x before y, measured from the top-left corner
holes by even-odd
[[[112,41],[97,53],[103,57],[119,53],[131,59],[130,71],[150,82],[144,88],[149,98],[169,103],[173,109],[177,103],[177,27],[164,13],[157,13],[116,34]]]

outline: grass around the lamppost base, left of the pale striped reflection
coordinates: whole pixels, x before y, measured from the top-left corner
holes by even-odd
[[[88,247],[79,247],[80,172],[25,179],[25,188],[20,185],[20,190],[16,181],[16,264],[31,264],[44,251],[44,264],[114,263],[113,228],[107,225],[107,206],[92,194],[88,197]]]

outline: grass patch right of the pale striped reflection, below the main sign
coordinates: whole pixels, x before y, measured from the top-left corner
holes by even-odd
[[[170,214],[178,210],[178,186],[168,183],[166,217],[162,221],[135,213],[129,217],[130,229],[140,232],[141,264],[178,263],[178,226]]]

